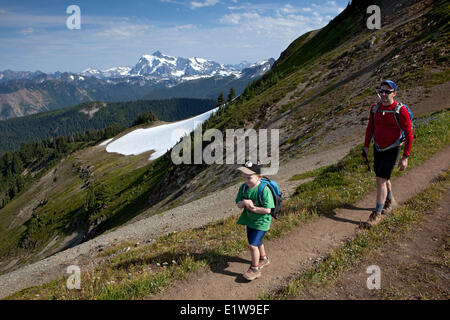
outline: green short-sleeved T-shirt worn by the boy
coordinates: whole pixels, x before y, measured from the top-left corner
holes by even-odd
[[[242,199],[251,199],[255,205],[255,207],[263,207],[263,208],[275,208],[275,203],[273,201],[272,192],[270,192],[269,187],[264,188],[263,194],[262,194],[262,204],[258,203],[258,188],[259,184],[254,188],[247,188],[247,191],[245,194],[242,194],[242,188],[244,185],[241,185],[239,188],[238,194],[236,196],[236,203],[241,201]],[[270,222],[272,221],[272,216],[269,214],[259,214],[254,213],[250,210],[247,210],[247,208],[244,208],[244,210],[241,213],[241,216],[239,217],[237,224],[242,224],[245,226],[249,226],[250,228],[261,230],[261,231],[267,231],[270,228]]]

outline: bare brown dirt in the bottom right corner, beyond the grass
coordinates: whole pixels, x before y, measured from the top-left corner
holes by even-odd
[[[296,299],[450,299],[447,238],[450,235],[450,188],[436,208],[423,212],[424,219],[405,233],[383,244],[344,272],[336,282],[308,290]],[[444,252],[440,249],[444,247]],[[367,267],[379,266],[381,290],[367,290]]]

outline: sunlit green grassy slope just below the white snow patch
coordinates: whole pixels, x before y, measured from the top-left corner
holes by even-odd
[[[148,198],[170,162],[170,159],[158,159],[142,166],[147,162],[148,153],[123,157],[105,152],[100,157],[94,152],[95,158],[89,159],[84,151],[81,152],[83,155],[70,156],[62,163],[56,185],[51,186],[52,192],[46,197],[46,204],[37,207],[24,225],[2,232],[1,257],[27,253],[31,259],[33,253],[44,249],[56,235],[63,238],[79,226],[86,227],[97,219],[104,221],[98,233],[123,224],[148,207]],[[80,177],[76,172],[78,161],[88,161],[94,170],[93,176]],[[105,199],[102,210],[85,207],[89,188],[82,188],[82,185],[88,180],[94,186],[97,199],[100,191],[105,193],[102,195]],[[38,191],[39,188],[31,196],[31,191],[24,193],[3,208],[2,225],[8,225],[5,217],[17,212],[17,208],[22,208],[30,197],[38,198]]]

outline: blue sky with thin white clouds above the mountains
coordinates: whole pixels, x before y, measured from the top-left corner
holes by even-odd
[[[220,63],[277,59],[348,0],[0,0],[0,70],[133,66],[156,50]],[[66,9],[78,5],[81,29]]]

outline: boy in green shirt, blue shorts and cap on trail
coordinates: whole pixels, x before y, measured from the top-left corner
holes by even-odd
[[[250,268],[243,274],[247,280],[254,280],[261,276],[261,269],[270,261],[262,244],[265,233],[270,228],[272,216],[270,209],[275,208],[274,200],[269,188],[264,188],[262,203],[258,203],[258,188],[260,185],[261,166],[250,161],[244,167],[239,167],[244,178],[244,184],[239,188],[236,196],[238,208],[244,209],[237,223],[247,226],[247,239],[252,257]]]

